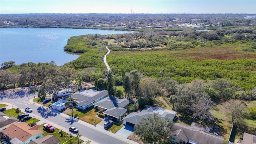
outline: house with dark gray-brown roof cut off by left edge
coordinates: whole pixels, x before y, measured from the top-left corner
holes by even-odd
[[[0,132],[16,122],[18,122],[18,118],[15,118],[13,116],[8,117],[3,112],[0,112]]]

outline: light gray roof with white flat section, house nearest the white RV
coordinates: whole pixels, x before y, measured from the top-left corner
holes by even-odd
[[[73,98],[76,98],[76,102],[80,106],[87,106],[88,104],[98,100],[99,98],[108,95],[107,90],[80,90],[72,94]]]

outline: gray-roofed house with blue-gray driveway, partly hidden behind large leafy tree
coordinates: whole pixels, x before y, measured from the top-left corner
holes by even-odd
[[[134,126],[137,124],[142,118],[146,118],[148,116],[153,115],[154,113],[158,113],[162,117],[169,117],[172,120],[174,120],[174,117],[176,117],[175,111],[172,110],[166,110],[164,108],[156,108],[153,106],[147,106],[144,110],[140,112],[132,112],[128,114],[124,119],[123,119],[123,124],[129,125],[129,126]]]

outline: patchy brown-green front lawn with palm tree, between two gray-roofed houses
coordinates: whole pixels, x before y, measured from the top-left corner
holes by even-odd
[[[93,106],[91,106],[86,111],[80,111],[80,110],[77,110],[76,108],[73,108],[73,110],[74,110],[75,118],[79,118],[79,120],[82,120],[89,124],[94,125],[94,120],[96,121],[96,124],[102,121],[101,119],[95,117],[97,115],[97,112],[95,112],[95,109],[93,108]],[[68,115],[72,116],[72,110],[70,113],[68,113]]]

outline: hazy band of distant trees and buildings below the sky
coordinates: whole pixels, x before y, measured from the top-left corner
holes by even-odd
[[[255,26],[255,14],[0,14],[2,27],[86,28],[92,25],[168,26],[169,24],[202,24],[222,26]],[[4,23],[7,22],[7,23]]]

